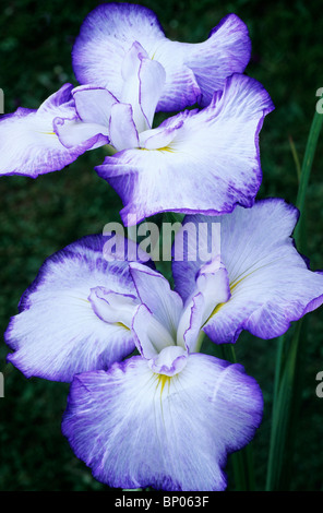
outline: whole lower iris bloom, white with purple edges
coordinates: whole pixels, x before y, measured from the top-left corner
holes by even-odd
[[[175,261],[175,290],[152,262],[105,260],[103,236],[45,262],[7,330],[9,360],[72,382],[63,433],[97,479],[225,489],[227,454],[254,436],[262,394],[241,366],[199,353],[202,337],[276,337],[323,302],[323,275],[291,238],[297,219],[283,200],[187,216],[220,223],[222,251],[206,264]]]

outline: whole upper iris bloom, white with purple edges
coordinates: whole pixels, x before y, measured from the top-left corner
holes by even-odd
[[[120,194],[127,226],[157,212],[251,206],[262,178],[259,132],[273,104],[240,73],[249,55],[235,15],[205,43],[189,45],[168,40],[145,8],[99,5],[73,49],[83,85],[64,84],[38,110],[0,120],[0,174],[35,178],[110,144],[115,155],[96,170]],[[153,128],[156,110],[196,102],[202,110]]]

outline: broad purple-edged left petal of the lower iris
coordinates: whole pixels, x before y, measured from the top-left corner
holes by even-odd
[[[24,293],[5,342],[14,349],[9,361],[26,377],[71,381],[135,348],[131,308],[139,300],[129,262],[107,261],[104,247],[103,236],[68,246],[46,260]]]

